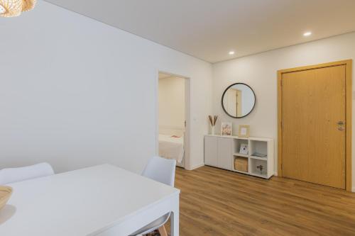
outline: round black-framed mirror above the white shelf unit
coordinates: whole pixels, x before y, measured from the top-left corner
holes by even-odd
[[[248,116],[256,103],[253,89],[243,83],[231,84],[223,93],[222,108],[228,116],[243,118]]]

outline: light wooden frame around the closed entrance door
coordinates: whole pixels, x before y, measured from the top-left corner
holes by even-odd
[[[319,69],[324,67],[336,67],[345,65],[345,189],[351,191],[351,117],[352,117],[352,60],[342,60],[338,62],[329,62],[323,64],[315,64],[305,67],[295,67],[291,69],[278,70],[278,176],[283,176],[283,130],[282,130],[282,78],[283,74],[300,72],[310,69]]]

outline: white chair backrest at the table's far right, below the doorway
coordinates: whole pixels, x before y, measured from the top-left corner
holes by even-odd
[[[174,186],[175,181],[175,159],[152,157],[149,159],[142,175],[163,184]]]

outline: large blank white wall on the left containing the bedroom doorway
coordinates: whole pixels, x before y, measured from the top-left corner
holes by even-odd
[[[158,70],[191,80],[190,166],[203,163],[209,63],[45,1],[0,31],[0,168],[141,172],[156,151]]]

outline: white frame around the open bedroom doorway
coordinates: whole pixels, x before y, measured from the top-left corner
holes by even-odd
[[[157,69],[155,77],[155,154],[159,155],[159,74],[168,74],[171,77],[179,77],[185,79],[185,138],[184,138],[184,168],[187,170],[193,169],[190,162],[190,150],[191,150],[191,118],[190,118],[190,108],[191,108],[191,79],[180,74],[174,74],[171,72],[166,72],[165,70]]]

